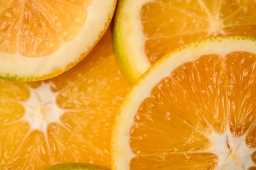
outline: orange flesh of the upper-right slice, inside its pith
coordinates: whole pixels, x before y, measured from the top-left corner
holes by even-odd
[[[254,0],[154,0],[143,5],[151,64],[185,43],[216,35],[256,36]]]

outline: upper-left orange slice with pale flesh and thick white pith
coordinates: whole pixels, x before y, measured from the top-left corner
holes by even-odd
[[[0,78],[36,81],[81,61],[110,23],[116,0],[1,0]]]

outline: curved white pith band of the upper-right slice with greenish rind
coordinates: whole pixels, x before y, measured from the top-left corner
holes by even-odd
[[[145,53],[146,39],[142,32],[140,13],[141,7],[149,1],[152,0],[123,0],[118,9],[120,12],[117,13],[117,19],[121,19],[117,21],[118,48],[126,55],[128,69],[134,78],[138,78],[151,66]]]

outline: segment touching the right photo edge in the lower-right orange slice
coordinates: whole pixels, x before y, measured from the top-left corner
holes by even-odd
[[[234,136],[242,136],[256,120],[256,54],[235,52],[225,60],[229,126]]]

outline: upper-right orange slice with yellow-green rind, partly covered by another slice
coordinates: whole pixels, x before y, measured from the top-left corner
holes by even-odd
[[[215,35],[256,35],[255,0],[120,0],[114,51],[129,82],[171,50]]]

